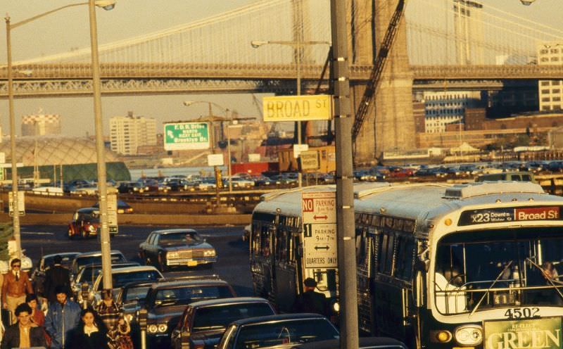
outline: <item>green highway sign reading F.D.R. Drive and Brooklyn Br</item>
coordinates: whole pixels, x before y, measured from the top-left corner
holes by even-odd
[[[173,122],[164,125],[165,150],[184,151],[208,148],[208,122]]]

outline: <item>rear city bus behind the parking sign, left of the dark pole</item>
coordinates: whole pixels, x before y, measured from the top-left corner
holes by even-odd
[[[305,243],[301,211],[303,193],[327,193],[335,186],[308,186],[275,191],[262,196],[252,215],[250,234],[250,264],[256,296],[267,298],[281,312],[291,312],[296,296],[303,292],[303,281],[312,277],[317,291],[336,305],[338,272],[336,261],[330,267],[308,267],[305,256],[326,255],[326,250],[313,250]],[[336,227],[332,234],[336,236]],[[336,245],[336,240],[334,241]],[[336,252],[335,252],[336,255]]]

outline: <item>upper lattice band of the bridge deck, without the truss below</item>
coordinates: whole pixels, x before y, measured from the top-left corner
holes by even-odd
[[[17,80],[91,79],[90,65],[30,64],[14,66]],[[350,80],[369,79],[371,65],[350,66]],[[303,79],[317,79],[321,65],[302,65]],[[415,80],[500,80],[563,79],[563,65],[413,65]],[[101,77],[106,79],[295,79],[296,66],[287,64],[208,64],[208,63],[102,63]],[[0,80],[6,80],[6,66],[0,68]]]

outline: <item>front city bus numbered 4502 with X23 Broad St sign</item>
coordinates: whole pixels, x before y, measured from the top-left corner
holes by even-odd
[[[355,192],[362,331],[409,348],[563,348],[563,198],[530,182]]]

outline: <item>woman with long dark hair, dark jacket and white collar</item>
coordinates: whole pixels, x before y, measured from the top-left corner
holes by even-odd
[[[68,349],[108,349],[109,340],[106,325],[89,307],[80,313],[80,322],[72,330]]]

